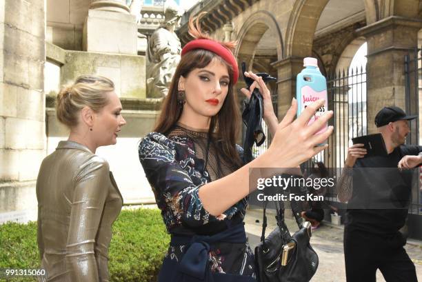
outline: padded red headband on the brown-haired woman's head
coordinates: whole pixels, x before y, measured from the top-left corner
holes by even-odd
[[[182,49],[181,56],[194,49],[205,49],[219,55],[223,60],[232,66],[233,69],[233,85],[237,83],[239,77],[239,70],[237,68],[237,61],[228,48],[225,48],[220,43],[210,39],[194,39],[189,41]]]

